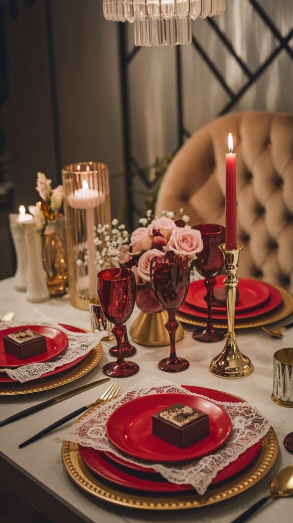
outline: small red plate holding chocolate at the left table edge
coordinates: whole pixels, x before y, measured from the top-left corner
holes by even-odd
[[[20,360],[7,354],[4,350],[3,336],[7,334],[13,334],[18,331],[22,331],[24,328],[30,328],[32,331],[42,334],[46,338],[47,350],[45,353],[37,354],[31,358]],[[66,349],[68,339],[66,334],[54,327],[44,327],[43,325],[22,325],[18,327],[6,328],[0,331],[0,367],[23,367],[30,363],[42,363],[44,361],[50,361],[53,358],[59,356],[63,350]]]

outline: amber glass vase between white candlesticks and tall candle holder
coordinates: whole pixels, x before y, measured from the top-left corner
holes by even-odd
[[[42,258],[50,295],[63,296],[68,285],[63,215],[58,215],[55,220],[47,221],[44,225]]]

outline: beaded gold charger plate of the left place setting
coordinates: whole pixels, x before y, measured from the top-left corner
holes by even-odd
[[[26,383],[0,384],[0,396],[42,392],[71,383],[72,381],[82,378],[94,369],[101,361],[102,355],[103,348],[102,345],[98,343],[80,363],[77,363],[77,365],[71,369],[56,374],[56,376],[48,376],[48,378],[40,378],[38,380],[27,381]]]

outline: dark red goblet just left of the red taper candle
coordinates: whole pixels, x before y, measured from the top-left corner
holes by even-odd
[[[224,339],[225,334],[213,328],[212,305],[216,283],[215,276],[220,274],[223,266],[223,257],[219,245],[225,242],[225,228],[215,223],[202,223],[201,225],[194,225],[192,229],[196,229],[202,234],[204,248],[201,253],[197,253],[195,266],[198,272],[205,277],[207,289],[207,325],[204,330],[195,329],[193,338],[199,342],[219,342]]]

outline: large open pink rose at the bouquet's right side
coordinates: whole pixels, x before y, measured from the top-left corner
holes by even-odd
[[[172,231],[165,250],[174,251],[176,254],[183,254],[183,256],[194,258],[196,253],[200,253],[203,248],[204,245],[200,231],[180,228]]]

